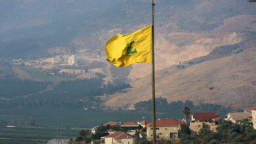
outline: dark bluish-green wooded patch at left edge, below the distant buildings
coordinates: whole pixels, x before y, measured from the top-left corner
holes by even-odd
[[[0,79],[0,97],[12,98],[34,94],[44,90],[51,82],[37,82],[19,79]]]

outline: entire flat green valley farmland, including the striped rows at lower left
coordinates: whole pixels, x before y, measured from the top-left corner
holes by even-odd
[[[139,111],[88,111],[71,108],[16,108],[0,109],[0,122],[16,125],[16,128],[0,127],[0,143],[30,144],[47,143],[50,139],[75,138],[79,130],[98,126],[110,120],[116,122],[152,121],[151,112]],[[168,117],[166,113],[158,113],[157,118]],[[171,117],[171,116],[169,116]],[[30,126],[31,119],[34,126]],[[28,127],[25,127],[28,126]]]

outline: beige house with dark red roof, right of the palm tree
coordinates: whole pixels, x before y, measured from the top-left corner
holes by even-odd
[[[213,132],[217,132],[219,115],[212,112],[194,113],[191,115],[190,130],[198,134],[201,128],[207,128]]]

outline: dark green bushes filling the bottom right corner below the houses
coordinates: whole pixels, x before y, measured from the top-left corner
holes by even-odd
[[[217,133],[202,128],[198,135],[189,135],[184,126],[181,127],[181,143],[254,143],[256,130],[247,124],[233,124],[224,121],[217,127]]]

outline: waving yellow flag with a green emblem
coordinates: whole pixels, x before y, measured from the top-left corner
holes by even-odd
[[[117,67],[125,67],[137,62],[152,63],[151,43],[152,26],[125,35],[117,33],[105,45],[106,60]]]

